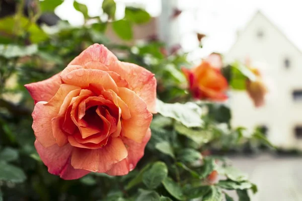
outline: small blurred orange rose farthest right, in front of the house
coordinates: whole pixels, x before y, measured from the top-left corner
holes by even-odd
[[[256,68],[250,68],[250,70],[256,75],[256,80],[251,81],[247,79],[246,88],[249,96],[254,102],[255,107],[258,108],[264,105],[264,97],[267,93],[267,89],[262,81],[259,70]]]

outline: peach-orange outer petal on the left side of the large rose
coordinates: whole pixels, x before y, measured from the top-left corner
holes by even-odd
[[[55,138],[52,134],[52,118],[56,117],[59,113],[60,107],[63,103],[66,95],[75,89],[78,89],[77,86],[61,84],[57,93],[46,102],[38,102],[35,105],[32,117],[35,136],[37,140],[44,146],[49,147],[55,144]]]

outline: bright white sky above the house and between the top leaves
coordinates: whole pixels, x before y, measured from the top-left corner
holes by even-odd
[[[78,0],[88,6],[90,16],[101,14],[102,0]],[[170,0],[163,0],[170,1]],[[260,10],[280,29],[290,41],[302,50],[302,1],[300,0],[177,0],[183,10],[180,15],[181,45],[191,52],[191,60],[204,57],[211,52],[226,53],[236,41],[237,33],[244,29],[253,15]],[[116,0],[117,13],[122,17],[123,2],[143,3],[152,16],[161,13],[160,0]],[[72,7],[73,0],[56,9],[56,14],[72,25],[84,21],[81,13]],[[121,14],[121,15],[119,15]],[[188,23],[189,22],[189,23]],[[207,35],[203,48],[198,48],[194,32]]]

